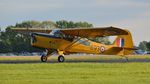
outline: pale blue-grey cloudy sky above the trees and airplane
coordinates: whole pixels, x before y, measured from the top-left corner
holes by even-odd
[[[0,0],[0,26],[26,20],[87,21],[126,28],[135,45],[150,41],[150,0]]]

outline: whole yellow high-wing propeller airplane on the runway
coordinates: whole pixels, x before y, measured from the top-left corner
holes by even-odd
[[[134,50],[132,35],[126,29],[116,27],[73,28],[73,29],[41,29],[13,28],[19,32],[31,33],[31,45],[46,49],[47,54],[41,56],[46,62],[53,52],[57,52],[58,62],[64,62],[64,55],[71,53],[88,53],[102,55],[129,55]],[[89,37],[117,36],[111,45],[93,42]]]

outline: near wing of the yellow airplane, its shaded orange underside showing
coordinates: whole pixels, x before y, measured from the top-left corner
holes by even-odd
[[[128,34],[125,30],[115,27],[76,28],[63,29],[61,31],[66,35],[80,37],[114,36]]]

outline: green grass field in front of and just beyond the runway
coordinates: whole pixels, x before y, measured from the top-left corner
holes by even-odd
[[[2,60],[12,61],[20,59],[21,57],[19,58],[0,57],[0,61]],[[25,57],[23,57],[23,59],[25,59]],[[33,59],[38,60],[37,57],[36,58],[28,57],[25,60],[33,60]],[[0,64],[0,84],[149,84],[149,83],[150,83],[149,62],[129,62],[129,63],[75,62],[75,63]]]

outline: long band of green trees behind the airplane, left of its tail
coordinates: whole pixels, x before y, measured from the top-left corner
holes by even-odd
[[[88,22],[73,22],[73,21],[23,21],[16,23],[14,26],[8,26],[5,32],[0,32],[0,53],[7,52],[42,52],[42,49],[37,49],[30,44],[30,35],[22,34],[11,30],[11,28],[82,28],[93,27],[93,24]],[[107,38],[96,38],[95,41],[108,41]],[[108,42],[107,42],[108,43]]]

